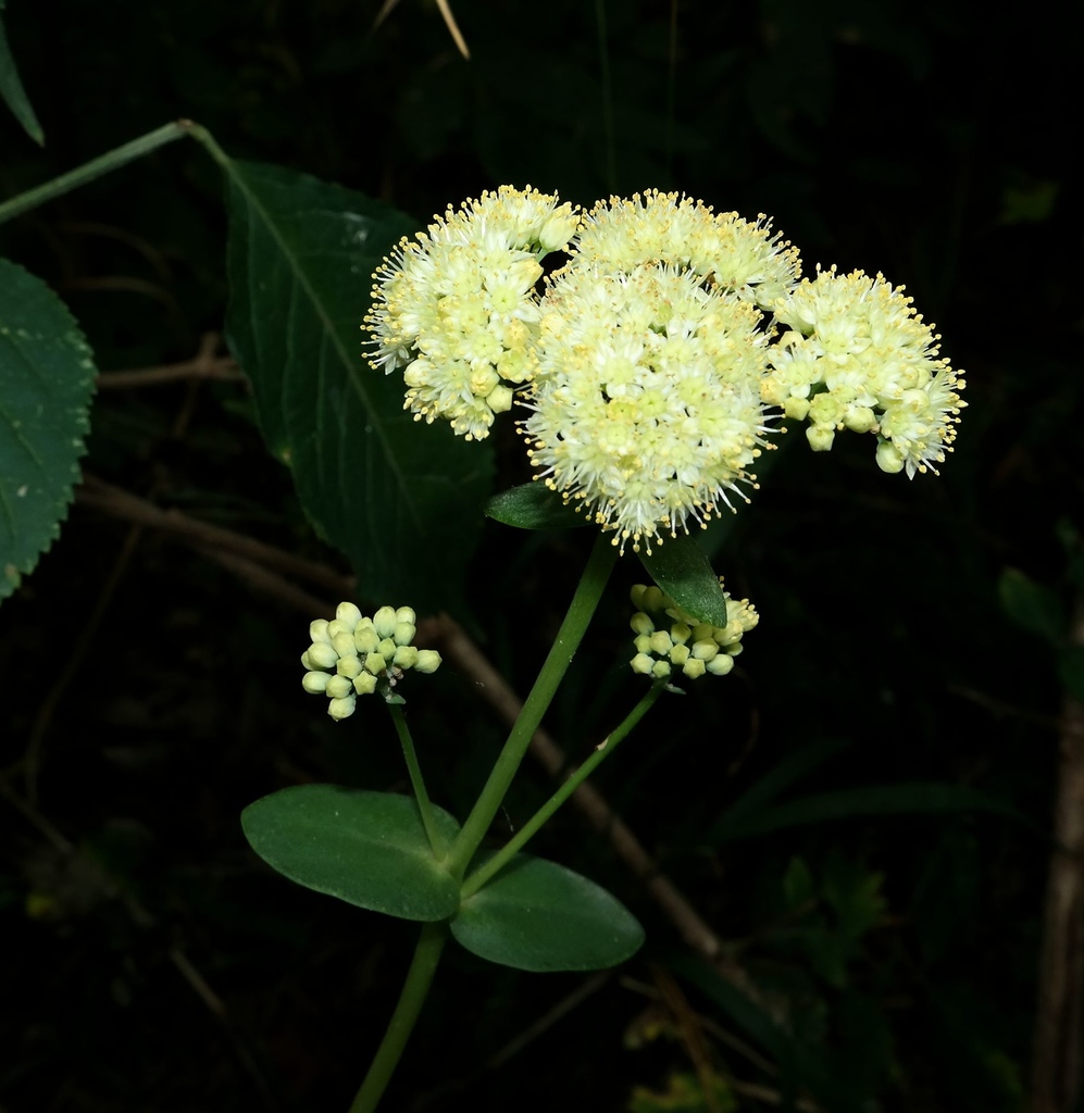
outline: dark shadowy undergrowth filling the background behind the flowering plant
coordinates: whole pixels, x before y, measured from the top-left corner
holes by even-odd
[[[772,214],[807,270],[906,284],[966,368],[969,408],[939,480],[880,474],[858,437],[816,456],[786,439],[752,504],[707,539],[762,615],[742,668],[666,701],[599,778],[779,1003],[781,1042],[712,995],[605,841],[562,815],[541,853],[625,900],[647,947],[598,978],[453,954],[388,1107],[648,1110],[671,1089],[666,1107],[708,1109],[674,1096],[698,1065],[717,1109],[792,1086],[832,1113],[1023,1107],[1055,650],[1084,590],[1078,41],[1053,13],[977,19],[963,2],[454,9],[469,62],[415,0],[376,30],[371,0],[11,0],[47,146],[0,118],[0,191],[178,117],[233,156],[423,219],[504,181],[585,204],[681,189]],[[221,329],[224,236],[216,168],[186,142],[6,225],[0,250],[120,371],[188,359]],[[501,484],[522,479],[515,439],[499,449]],[[86,470],[347,571],[238,383],[102,391]],[[520,691],[589,540],[486,525],[456,618]],[[1009,568],[1048,589],[1015,611],[1037,629],[1044,600],[1053,640],[1006,613]],[[625,559],[619,587],[637,579]],[[634,698],[624,622],[614,591],[551,712],[573,756]],[[287,784],[401,787],[386,717],[323,721],[298,684],[304,614],[78,503],[2,623],[0,1104],[345,1109],[413,932],[272,875],[237,816]],[[453,670],[411,712],[435,795],[462,815],[502,728]],[[545,791],[526,769],[505,821]]]

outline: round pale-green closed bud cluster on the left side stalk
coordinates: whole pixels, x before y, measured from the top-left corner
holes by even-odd
[[[302,653],[308,670],[302,678],[307,692],[326,696],[327,713],[345,719],[354,713],[358,696],[381,688],[387,695],[407,669],[435,672],[441,654],[411,644],[416,633],[410,607],[382,607],[366,618],[354,603],[339,603],[335,618],[309,624],[313,643]]]

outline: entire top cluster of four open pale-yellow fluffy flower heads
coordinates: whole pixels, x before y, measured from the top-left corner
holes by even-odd
[[[551,252],[566,262],[543,278]],[[763,216],[658,190],[581,213],[502,186],[377,270],[369,361],[403,370],[415,420],[467,440],[522,403],[535,479],[650,552],[747,499],[775,407],[818,451],[876,434],[888,472],[952,451],[964,382],[910,298],[880,275],[800,273]]]

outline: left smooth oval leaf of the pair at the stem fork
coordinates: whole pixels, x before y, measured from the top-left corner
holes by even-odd
[[[460,825],[434,808],[451,841]],[[252,848],[298,885],[401,919],[435,922],[460,903],[459,884],[430,849],[413,797],[298,785],[242,812]]]

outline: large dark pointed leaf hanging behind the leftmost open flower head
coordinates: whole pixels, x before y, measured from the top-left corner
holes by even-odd
[[[198,136],[197,136],[198,137]],[[482,525],[492,450],[403,412],[363,358],[372,274],[413,221],[362,194],[227,158],[227,334],[270,451],[364,597],[449,605]]]

